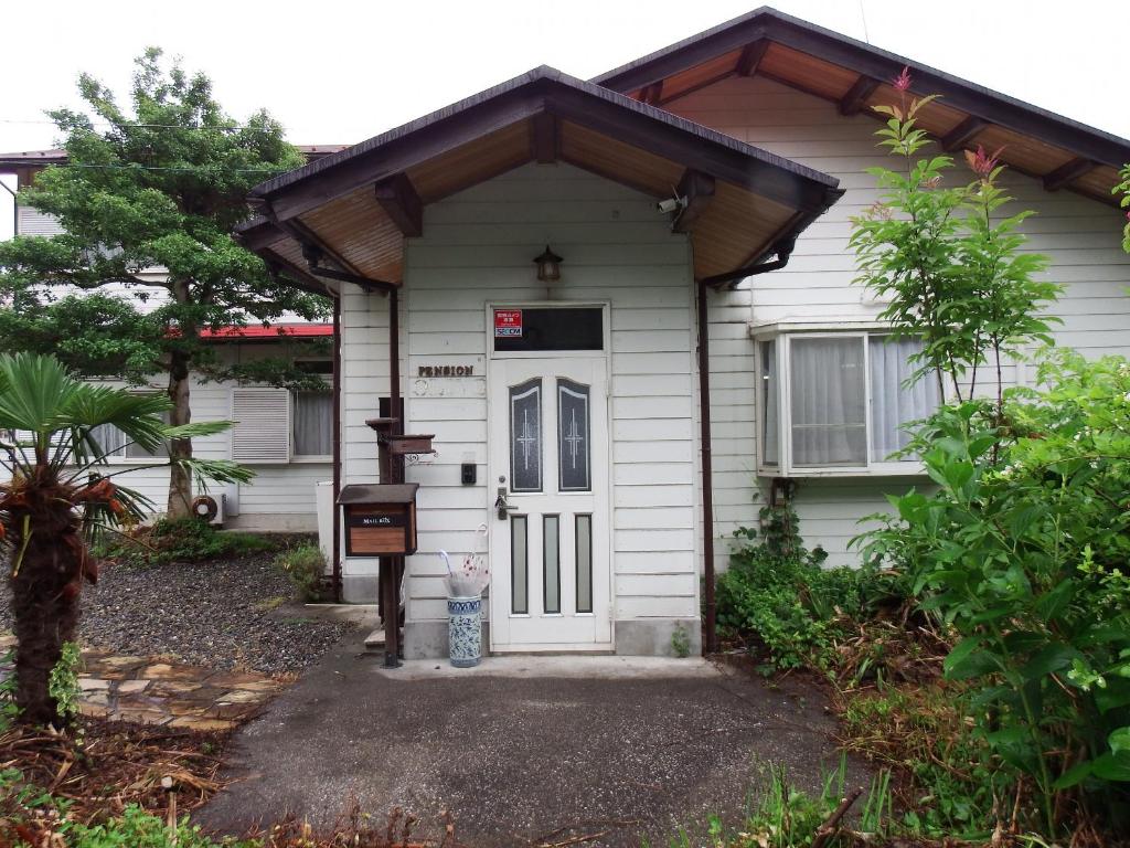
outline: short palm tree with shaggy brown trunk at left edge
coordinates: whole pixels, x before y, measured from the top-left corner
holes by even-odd
[[[10,475],[0,483],[0,546],[6,544],[10,555],[16,706],[27,724],[61,727],[69,718],[60,716],[49,684],[63,644],[75,639],[82,581],[97,580],[90,544],[153,511],[148,499],[114,479],[134,469],[115,466],[104,473],[108,452],[95,427],[111,425],[127,442],[156,451],[171,439],[229,426],[168,426],[162,414],[171,406],[160,393],[85,383],[53,356],[0,355],[0,467]],[[251,478],[229,461],[179,462],[199,479]]]

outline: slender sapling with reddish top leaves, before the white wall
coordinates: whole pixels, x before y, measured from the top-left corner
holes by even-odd
[[[1003,171],[999,150],[966,153],[975,179],[958,185],[945,182],[951,157],[916,158],[931,144],[916,116],[935,97],[907,103],[910,84],[904,70],[894,80],[902,105],[877,107],[889,116],[876,133],[879,145],[904,166],[868,168],[883,194],[853,219],[857,282],[889,300],[880,318],[894,337],[922,338],[915,379],[933,372],[939,388],[960,401],[976,393],[979,370],[989,366],[999,409],[1002,357],[1020,356],[1035,341],[1051,344],[1049,326],[1058,319],[1041,310],[1054,302],[1059,286],[1035,279],[1046,257],[1020,251],[1018,227],[1032,213],[994,218],[1011,200],[997,185]]]

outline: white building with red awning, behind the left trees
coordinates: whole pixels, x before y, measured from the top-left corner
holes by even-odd
[[[315,161],[341,148],[316,146],[299,149],[308,159]],[[19,184],[26,185],[40,170],[66,162],[63,150],[0,154],[0,173],[15,174]],[[51,215],[24,205],[15,205],[15,222],[17,235],[55,235],[62,232]],[[162,270],[150,269],[148,274],[159,279]],[[141,308],[156,308],[163,294],[162,289],[154,289],[150,292],[153,296]],[[124,288],[121,295],[132,296]],[[324,339],[332,343],[333,328],[328,323],[282,322],[269,329],[254,326],[233,328],[212,336],[221,348],[221,357],[236,363],[263,355],[286,355],[292,341]],[[255,477],[249,484],[210,487],[209,494],[220,508],[218,519],[225,527],[318,529],[315,485],[333,476],[333,408],[329,389],[333,363],[330,344],[324,347],[324,355],[307,355],[307,358],[298,361],[311,372],[325,375],[325,391],[290,392],[269,387],[219,383],[193,375],[193,419],[236,422],[227,432],[194,439],[193,452],[207,459],[235,459],[255,470]],[[148,388],[164,391],[167,386],[155,375]],[[113,432],[104,431],[99,436],[106,448],[114,447]],[[168,470],[145,468],[148,458],[137,453],[134,448],[120,448],[119,453],[111,457],[111,465],[140,466],[138,471],[129,475],[128,484],[149,497],[158,511],[164,510],[168,495]]]

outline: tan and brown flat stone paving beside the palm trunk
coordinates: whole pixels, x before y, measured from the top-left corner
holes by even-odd
[[[0,654],[16,643],[0,633]],[[11,672],[0,665],[0,680]],[[231,730],[255,716],[289,681],[253,672],[217,672],[168,657],[85,648],[78,673],[84,716],[193,730]]]

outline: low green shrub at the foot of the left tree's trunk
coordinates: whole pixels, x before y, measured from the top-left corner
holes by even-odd
[[[277,547],[277,543],[251,533],[217,530],[195,518],[162,518],[131,536],[107,539],[95,554],[129,565],[163,565],[207,562],[246,556]]]

